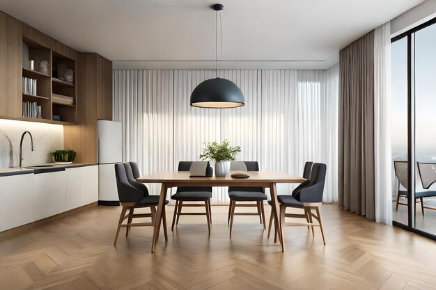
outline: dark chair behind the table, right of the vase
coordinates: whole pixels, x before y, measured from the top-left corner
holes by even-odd
[[[231,161],[231,171],[259,171],[259,163],[257,161]],[[249,186],[229,186],[228,198],[230,205],[228,207],[227,223],[230,223],[230,237],[232,236],[233,216],[259,216],[260,224],[263,224],[265,229],[265,210],[263,201],[267,200],[267,195],[263,187]],[[247,204],[247,202],[256,202]],[[236,207],[257,207],[257,213],[254,212],[237,212]]]

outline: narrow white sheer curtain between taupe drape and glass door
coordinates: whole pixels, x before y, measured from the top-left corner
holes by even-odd
[[[387,22],[374,31],[374,159],[375,221],[388,225],[392,224],[390,86],[391,29]]]

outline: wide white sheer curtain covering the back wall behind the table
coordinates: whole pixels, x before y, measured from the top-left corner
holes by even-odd
[[[114,120],[123,122],[123,159],[139,161],[143,174],[176,170],[179,161],[198,160],[204,141],[228,139],[241,146],[239,160],[256,160],[261,170],[302,175],[305,161],[327,163],[324,201],[336,202],[338,66],[218,73],[241,88],[245,106],[189,106],[192,90],[215,77],[215,70],[114,70]],[[158,190],[150,187],[150,193]],[[214,204],[228,202],[226,188],[214,191]],[[278,191],[290,194],[292,186],[281,184]]]

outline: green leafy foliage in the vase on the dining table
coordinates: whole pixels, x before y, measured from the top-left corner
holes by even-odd
[[[200,154],[201,160],[213,160],[213,161],[234,161],[236,156],[241,152],[241,147],[232,147],[228,140],[224,140],[222,144],[218,144],[216,141],[210,143],[205,142],[203,153]]]

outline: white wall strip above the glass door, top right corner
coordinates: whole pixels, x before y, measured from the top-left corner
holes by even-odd
[[[436,17],[436,0],[427,0],[391,20],[391,37]]]

